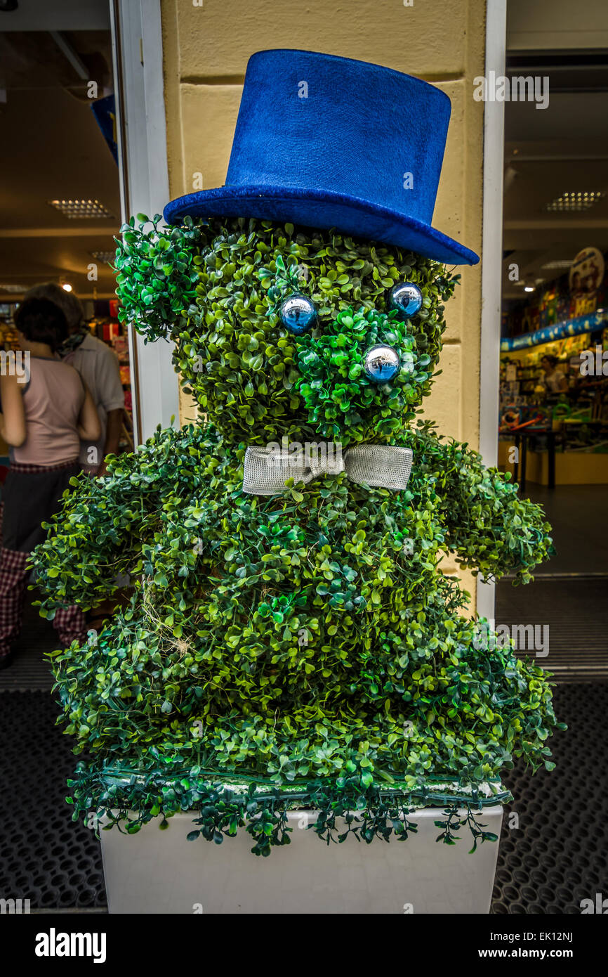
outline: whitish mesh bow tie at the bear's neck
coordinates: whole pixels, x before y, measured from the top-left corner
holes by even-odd
[[[353,445],[343,452],[333,445],[291,452],[250,446],[245,451],[243,491],[251,495],[275,495],[287,479],[312,482],[320,475],[345,472],[351,482],[373,488],[406,488],[412,470],[412,451],[395,445]]]

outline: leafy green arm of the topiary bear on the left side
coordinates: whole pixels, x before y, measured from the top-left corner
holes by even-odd
[[[89,610],[154,573],[150,554],[176,512],[187,523],[207,448],[203,430],[158,430],[137,451],[111,457],[104,478],[79,476],[32,554],[43,616],[71,604]],[[190,531],[182,533],[187,555]]]

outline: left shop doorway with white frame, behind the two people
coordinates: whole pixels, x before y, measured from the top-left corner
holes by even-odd
[[[111,391],[98,391],[100,413],[117,420],[112,444],[110,423],[101,437],[113,453],[178,416],[170,344],[145,348],[119,321],[111,268],[121,224],[169,198],[160,5],[146,0],[145,9],[145,19],[139,0],[23,0],[0,10],[0,351],[5,360],[19,352],[15,314],[32,288],[52,286],[66,308],[80,309],[79,331],[113,363]],[[11,454],[0,442],[0,483]],[[102,474],[102,445],[99,455],[91,460]],[[43,653],[57,637],[31,609],[35,596],[0,688],[51,688]]]

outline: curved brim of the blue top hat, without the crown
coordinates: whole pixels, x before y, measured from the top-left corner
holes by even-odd
[[[396,244],[446,265],[476,265],[479,261],[464,244],[415,217],[333,191],[267,185],[219,187],[171,200],[163,216],[168,224],[180,224],[187,215],[257,217],[327,231],[335,228],[341,234]]]

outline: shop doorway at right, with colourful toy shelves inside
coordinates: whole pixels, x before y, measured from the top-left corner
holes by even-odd
[[[505,106],[499,467],[542,502],[555,554],[500,584],[497,617],[550,625],[539,662],[608,676],[608,65],[587,50],[507,51],[547,108]],[[539,614],[544,615],[543,621]]]

